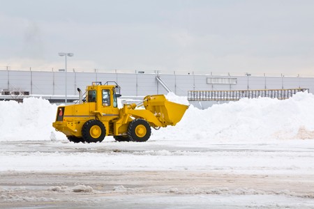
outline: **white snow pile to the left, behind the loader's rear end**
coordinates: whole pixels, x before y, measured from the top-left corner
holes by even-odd
[[[41,98],[0,101],[0,141],[50,140],[57,105]],[[60,133],[55,133],[61,137]]]

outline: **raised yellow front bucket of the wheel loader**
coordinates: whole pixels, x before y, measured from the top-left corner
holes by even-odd
[[[188,105],[168,101],[165,95],[146,96],[144,98],[144,107],[163,123],[163,127],[176,125],[188,109]]]

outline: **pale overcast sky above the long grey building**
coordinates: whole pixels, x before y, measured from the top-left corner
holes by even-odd
[[[0,0],[0,66],[314,74],[312,0]]]

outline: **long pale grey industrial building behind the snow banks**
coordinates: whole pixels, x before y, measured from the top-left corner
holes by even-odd
[[[314,77],[302,75],[218,74],[213,72],[160,72],[158,70],[8,70],[0,69],[1,100],[41,96],[50,102],[77,100],[91,82],[117,82],[124,98],[145,95],[186,96],[201,107],[217,102],[267,96],[285,99],[298,91],[314,91]],[[203,104],[200,103],[203,101]],[[204,102],[206,101],[206,102]],[[211,101],[209,104],[208,101]],[[206,103],[206,104],[205,104]]]

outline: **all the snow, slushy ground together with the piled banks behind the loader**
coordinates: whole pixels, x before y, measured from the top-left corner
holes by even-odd
[[[73,144],[52,127],[56,105],[0,102],[0,208],[314,208],[313,104],[190,106],[145,143]]]

